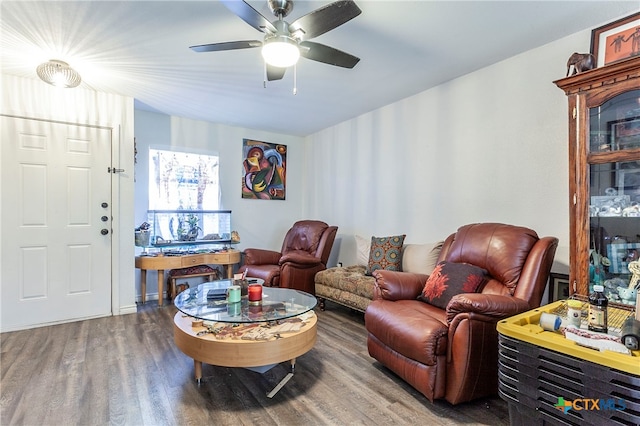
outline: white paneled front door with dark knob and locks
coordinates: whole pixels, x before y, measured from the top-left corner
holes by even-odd
[[[0,328],[110,315],[111,130],[0,119]]]

